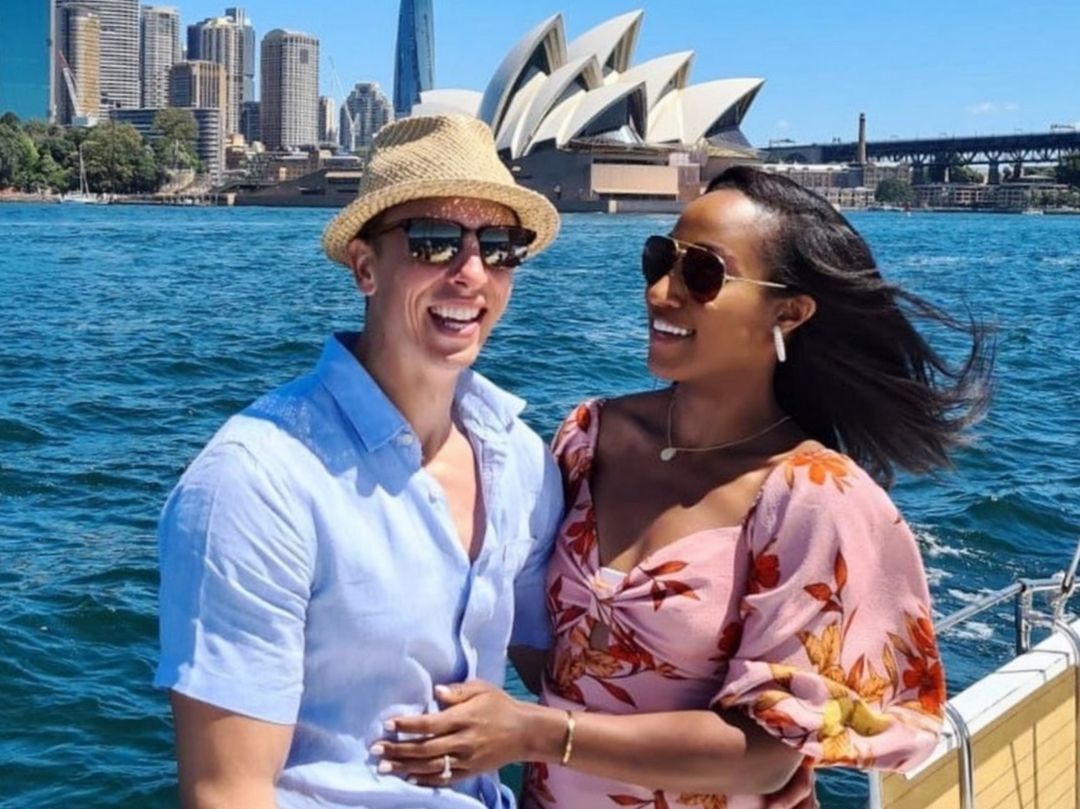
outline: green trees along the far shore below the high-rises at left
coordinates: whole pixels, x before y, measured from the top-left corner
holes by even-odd
[[[152,193],[178,170],[201,168],[190,110],[154,116],[149,140],[131,124],[64,127],[0,116],[0,189],[64,193],[79,189],[79,153],[91,193]]]

